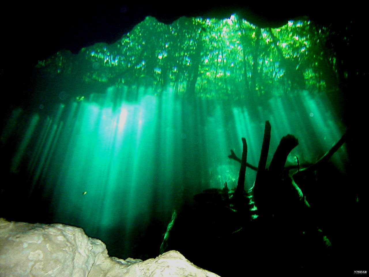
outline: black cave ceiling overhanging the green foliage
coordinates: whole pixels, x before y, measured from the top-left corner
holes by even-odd
[[[154,16],[163,23],[171,23],[181,16],[227,18],[237,13],[260,27],[280,27],[291,19],[310,19],[320,24],[345,24],[351,20],[353,8],[317,4],[313,2],[232,2],[232,4],[181,4],[180,2],[110,1],[29,2],[2,4],[1,18],[4,41],[2,53],[27,52],[24,62],[34,64],[61,49],[77,53],[82,47],[96,42],[112,43],[134,25]],[[2,64],[10,62],[2,58]],[[4,67],[3,67],[4,68]]]

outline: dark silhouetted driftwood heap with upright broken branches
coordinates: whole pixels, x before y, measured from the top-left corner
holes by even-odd
[[[288,134],[280,140],[266,169],[270,132],[267,121],[258,167],[247,163],[245,138],[241,159],[231,150],[228,157],[241,163],[237,188],[228,189],[225,183],[223,189],[207,189],[195,195],[199,206],[182,212],[175,224],[170,222],[168,230],[172,234],[165,242],[166,249],[161,251],[178,250],[198,266],[223,277],[245,270],[244,263],[249,265],[248,273],[261,268],[273,272],[288,268],[296,274],[314,273],[332,263],[330,240],[319,228],[316,211],[308,204],[300,185],[308,186],[306,176],[322,168],[347,135],[317,163],[285,167],[287,155],[298,145],[297,138]],[[257,174],[254,186],[245,191],[247,167],[257,170]],[[297,170],[290,177],[293,168]],[[232,263],[230,267],[217,261],[229,254],[244,263]]]

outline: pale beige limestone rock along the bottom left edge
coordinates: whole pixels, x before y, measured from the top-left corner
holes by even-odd
[[[194,266],[177,251],[141,261],[108,256],[101,240],[82,228],[0,219],[0,276],[164,277],[218,275]]]

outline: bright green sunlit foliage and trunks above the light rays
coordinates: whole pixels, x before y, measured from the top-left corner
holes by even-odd
[[[272,29],[237,15],[182,17],[170,25],[147,17],[115,44],[83,48],[77,57],[61,51],[38,67],[90,84],[144,85],[157,93],[170,86],[179,95],[200,98],[320,92],[337,86],[328,37],[325,28],[310,21]]]

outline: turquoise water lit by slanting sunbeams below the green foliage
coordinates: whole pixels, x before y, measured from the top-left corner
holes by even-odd
[[[137,101],[124,100],[133,93]],[[287,163],[296,164],[295,155],[301,164],[318,160],[343,133],[328,103],[304,92],[235,105],[186,100],[171,88],[158,94],[111,87],[55,104],[48,115],[15,109],[1,143],[14,147],[9,168],[23,180],[26,196],[8,197],[28,204],[13,216],[80,226],[124,259],[154,257],[173,210],[190,205],[204,189],[223,188],[224,182],[235,187],[239,164],[227,156],[230,149],[241,155],[241,137],[248,142],[248,162],[258,164],[265,120],[272,125],[268,162],[287,133],[300,143]],[[343,146],[332,162],[344,172],[346,159]],[[255,174],[246,170],[245,188]]]

